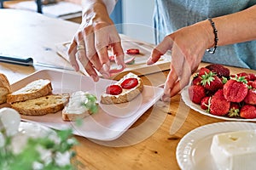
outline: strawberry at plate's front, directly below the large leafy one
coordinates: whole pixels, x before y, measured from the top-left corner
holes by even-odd
[[[210,113],[216,116],[224,116],[230,111],[230,101],[224,98],[223,89],[219,89],[210,102]]]

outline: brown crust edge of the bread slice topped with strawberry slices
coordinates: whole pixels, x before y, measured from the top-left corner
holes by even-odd
[[[102,104],[121,104],[129,102],[132,99],[136,98],[138,94],[143,92],[143,81],[140,77],[137,77],[138,85],[136,88],[132,88],[128,93],[122,93],[119,95],[102,95],[101,103]],[[120,83],[120,82],[117,82]]]

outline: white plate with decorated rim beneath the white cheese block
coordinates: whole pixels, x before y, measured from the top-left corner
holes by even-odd
[[[256,129],[253,122],[217,122],[197,127],[177,144],[176,157],[181,169],[217,169],[210,154],[212,137],[217,133]]]

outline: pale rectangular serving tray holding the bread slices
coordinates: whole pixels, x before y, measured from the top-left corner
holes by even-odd
[[[20,82],[15,82],[12,88],[13,90],[19,89],[39,78],[49,79],[52,82],[54,94],[71,94],[75,91],[83,90],[88,91],[90,94],[95,94],[98,100],[101,99],[100,96],[106,87],[114,82],[106,79],[93,82],[90,77],[84,77],[80,74],[44,70],[35,72]],[[38,122],[46,127],[55,129],[73,127],[74,134],[85,138],[113,140],[125,133],[145,111],[160,99],[162,94],[162,88],[144,86],[143,93],[129,103],[119,105],[100,104],[100,110],[92,116],[85,117],[79,127],[75,125],[75,122],[63,122],[61,111],[45,116],[21,116],[21,118],[26,122]]]

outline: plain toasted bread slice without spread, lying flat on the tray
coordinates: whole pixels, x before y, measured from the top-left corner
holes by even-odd
[[[49,94],[37,99],[15,102],[11,107],[22,115],[42,116],[61,111],[67,104],[69,94]]]

